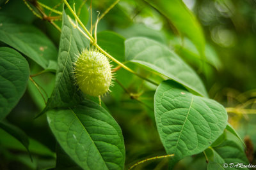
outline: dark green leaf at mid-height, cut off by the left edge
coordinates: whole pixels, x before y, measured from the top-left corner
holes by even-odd
[[[0,47],[0,121],[19,102],[29,78],[29,65],[19,52]]]

